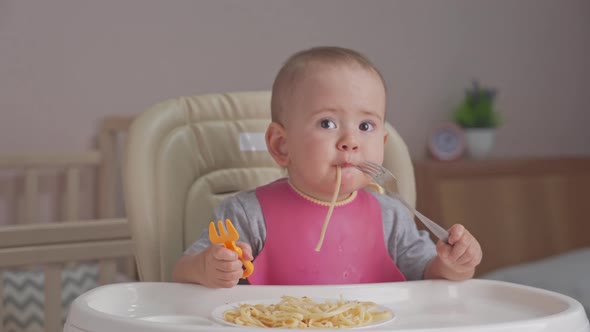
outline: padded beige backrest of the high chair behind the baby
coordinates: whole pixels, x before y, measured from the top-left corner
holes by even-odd
[[[124,192],[142,281],[170,281],[176,260],[240,190],[285,176],[266,151],[270,92],[181,97],[140,114],[127,137]],[[387,125],[384,165],[416,199],[405,143]]]

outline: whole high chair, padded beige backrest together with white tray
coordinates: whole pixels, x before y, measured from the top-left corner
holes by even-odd
[[[391,312],[387,320],[368,326],[374,331],[590,332],[576,300],[491,280],[225,289],[145,282],[171,279],[174,263],[223,198],[285,176],[265,148],[269,107],[269,92],[183,97],[158,104],[134,121],[124,187],[143,282],[105,285],[81,295],[64,332],[236,331],[239,327],[224,320],[225,310],[240,303],[276,303],[283,295],[373,301]],[[408,151],[395,130],[389,125],[387,130],[385,166],[414,205]]]

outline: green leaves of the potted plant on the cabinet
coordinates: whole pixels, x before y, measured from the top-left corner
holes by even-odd
[[[453,113],[455,122],[463,128],[496,128],[501,119],[494,110],[495,98],[495,89],[482,87],[474,80]]]

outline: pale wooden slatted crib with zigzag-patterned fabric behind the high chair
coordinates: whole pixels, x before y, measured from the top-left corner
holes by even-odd
[[[0,155],[0,331],[62,331],[71,301],[136,279],[121,216],[121,139],[105,119],[96,150]]]

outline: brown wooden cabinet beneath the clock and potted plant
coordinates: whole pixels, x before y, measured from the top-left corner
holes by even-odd
[[[415,161],[417,208],[461,223],[484,254],[477,274],[590,246],[590,157]]]

